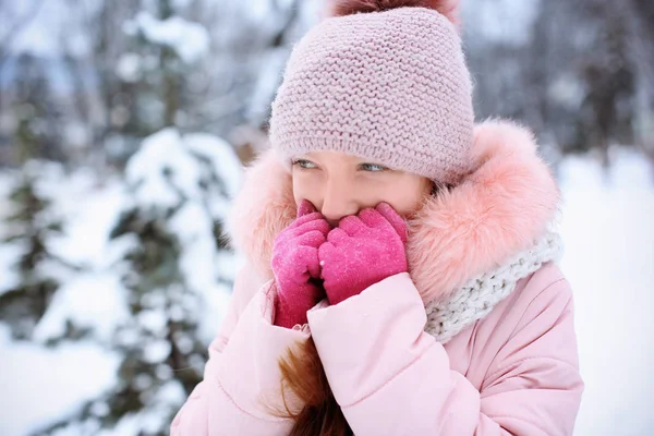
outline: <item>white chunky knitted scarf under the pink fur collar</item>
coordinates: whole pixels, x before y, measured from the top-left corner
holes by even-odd
[[[514,289],[518,280],[536,271],[546,262],[558,262],[562,254],[560,235],[549,230],[531,249],[506,264],[470,279],[445,301],[425,307],[424,330],[446,343],[465,327],[486,316]]]

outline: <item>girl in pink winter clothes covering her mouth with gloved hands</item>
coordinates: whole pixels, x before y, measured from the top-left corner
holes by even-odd
[[[526,129],[473,123],[456,10],[340,1],[294,47],[173,435],[572,434],[559,191]]]

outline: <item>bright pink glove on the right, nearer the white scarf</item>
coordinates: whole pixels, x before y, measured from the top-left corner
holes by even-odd
[[[387,277],[407,272],[407,223],[386,204],[341,219],[320,245],[323,286],[338,304]]]

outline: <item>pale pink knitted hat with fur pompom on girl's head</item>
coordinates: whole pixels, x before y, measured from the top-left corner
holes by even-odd
[[[288,164],[339,150],[460,181],[474,114],[457,7],[458,0],[338,2],[331,14],[344,16],[312,28],[287,63],[270,118],[278,156]]]

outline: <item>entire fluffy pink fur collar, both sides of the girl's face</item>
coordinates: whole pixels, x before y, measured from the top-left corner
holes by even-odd
[[[525,128],[477,124],[470,158],[474,170],[451,191],[427,198],[409,222],[410,274],[425,304],[529,249],[557,210],[559,190]],[[234,246],[271,278],[272,241],[295,218],[291,177],[272,152],[246,175],[228,228]]]

